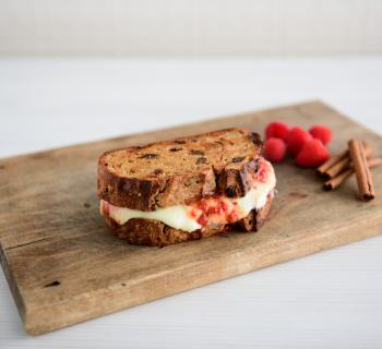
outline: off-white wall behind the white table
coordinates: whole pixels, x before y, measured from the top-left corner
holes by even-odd
[[[0,53],[382,53],[381,0],[0,0]]]

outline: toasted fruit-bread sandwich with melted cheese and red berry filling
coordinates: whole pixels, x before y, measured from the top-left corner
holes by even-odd
[[[131,244],[164,246],[258,231],[276,178],[259,134],[227,129],[104,153],[100,214]]]

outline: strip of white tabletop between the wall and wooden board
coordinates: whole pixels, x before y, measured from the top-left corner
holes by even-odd
[[[382,133],[382,59],[0,59],[0,156],[306,99]]]

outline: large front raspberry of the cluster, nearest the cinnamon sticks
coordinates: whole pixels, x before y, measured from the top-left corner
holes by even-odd
[[[318,167],[329,158],[329,152],[318,139],[308,141],[296,158],[301,167]]]

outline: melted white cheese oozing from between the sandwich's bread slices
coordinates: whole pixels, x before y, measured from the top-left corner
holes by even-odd
[[[230,198],[224,196],[229,205],[236,204],[238,213],[238,219],[246,217],[253,208],[260,209],[266,204],[267,195],[273,194],[273,190],[276,184],[276,178],[271,164],[266,164],[268,168],[267,180],[256,182],[254,186],[242,197]],[[127,207],[114,206],[106,201],[100,202],[102,215],[109,215],[119,225],[126,224],[132,218],[154,219],[166,224],[169,227],[181,229],[191,232],[196,229],[201,229],[202,226],[198,222],[198,219],[190,215],[193,206],[188,205],[174,205],[156,210],[144,212],[139,209],[130,209]],[[216,217],[218,218],[218,217]]]

